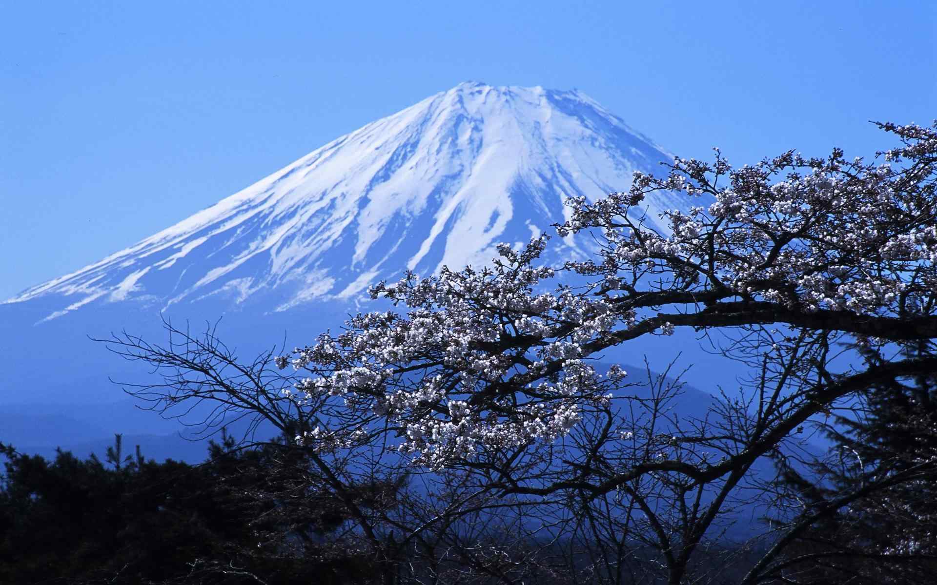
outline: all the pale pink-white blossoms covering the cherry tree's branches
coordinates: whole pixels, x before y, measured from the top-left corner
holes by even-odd
[[[573,198],[557,229],[598,235],[585,261],[539,265],[543,235],[519,250],[499,245],[490,267],[375,286],[373,298],[402,310],[358,314],[277,359],[309,374],[301,399],[344,409],[343,431],[300,440],[350,446],[382,421],[394,448],[430,467],[556,441],[624,384],[620,369],[602,375],[589,358],[632,336],[673,334],[680,323],[658,314],[665,307],[680,305],[680,317],[738,300],[798,314],[930,314],[937,127],[883,127],[905,146],[881,163],[835,150],[733,168],[717,151],[712,164],[675,159],[663,178],[636,173],[627,193]],[[648,227],[642,202],[675,190],[700,205],[664,213],[667,230]]]

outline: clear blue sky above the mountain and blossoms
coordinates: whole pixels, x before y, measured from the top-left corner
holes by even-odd
[[[459,81],[579,88],[668,150],[885,146],[937,2],[3,2],[0,299]]]

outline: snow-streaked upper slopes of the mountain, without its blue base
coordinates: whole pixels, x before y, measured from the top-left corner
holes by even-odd
[[[351,300],[404,269],[460,269],[672,157],[578,91],[462,83],[367,124],[139,243],[7,302],[204,299],[279,311]],[[685,208],[673,196],[648,216]],[[579,256],[573,241],[560,256]]]

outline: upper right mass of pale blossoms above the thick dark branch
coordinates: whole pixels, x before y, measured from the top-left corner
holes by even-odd
[[[560,233],[599,230],[603,246],[601,262],[570,266],[604,274],[609,286],[624,271],[650,271],[684,289],[791,310],[920,314],[937,290],[937,126],[880,125],[905,142],[885,162],[847,161],[837,149],[733,168],[717,151],[712,165],[675,159],[665,178],[639,175],[628,194],[573,198]],[[655,232],[640,221],[640,203],[666,190],[708,205],[666,212],[669,233]]]

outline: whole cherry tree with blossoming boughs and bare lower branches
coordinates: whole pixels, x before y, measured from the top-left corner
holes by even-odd
[[[446,514],[403,532],[398,522],[395,538],[417,542],[471,498],[542,504],[549,528],[528,542],[587,530],[593,544],[618,543],[605,569],[590,564],[595,582],[620,579],[633,543],[666,582],[685,582],[721,519],[757,497],[756,461],[791,457],[793,440],[859,392],[937,372],[937,125],[877,125],[900,144],[871,161],[835,149],[733,167],[716,150],[714,162],[635,173],[627,192],[569,201],[558,236],[591,245],[591,257],[543,265],[543,235],[498,246],[490,267],[408,272],[371,290],[389,310],[242,366],[237,383],[186,358],[190,347],[126,336],[113,347],[175,369],[149,388],[158,408],[260,413],[295,429],[325,475],[406,470],[471,486],[462,501],[450,494]],[[642,204],[671,192],[699,203],[656,228]],[[640,355],[647,336],[684,330],[750,373],[697,417],[667,406],[679,376],[600,365],[613,348]],[[211,344],[200,351],[217,358]],[[270,359],[279,377],[263,377]]]

